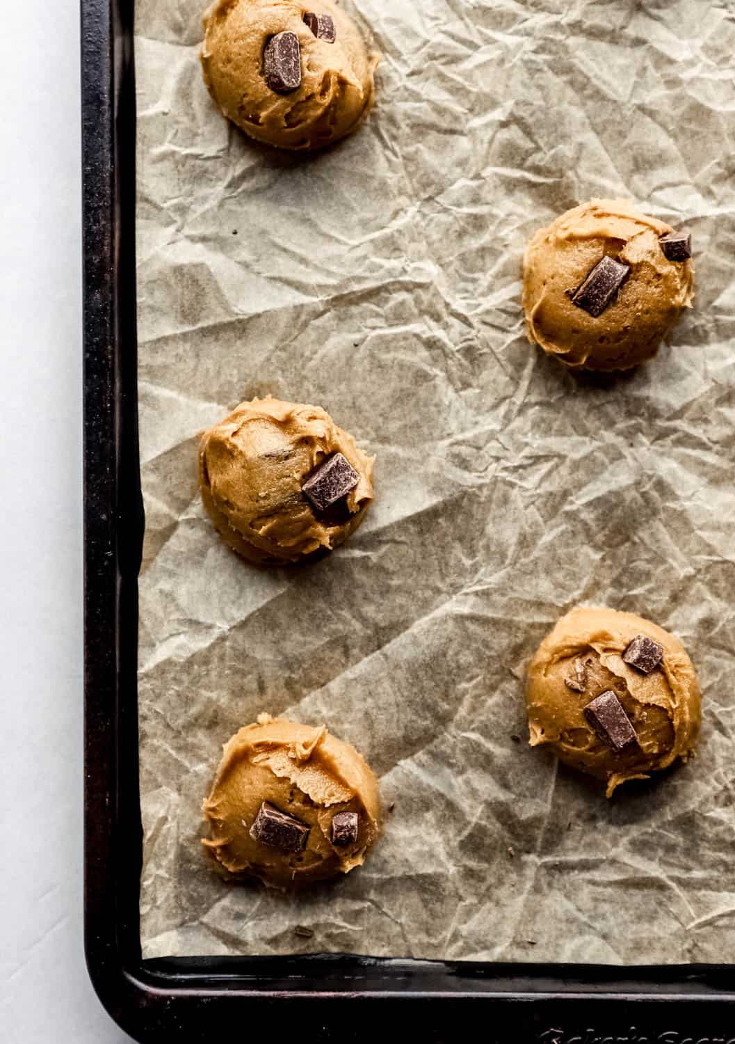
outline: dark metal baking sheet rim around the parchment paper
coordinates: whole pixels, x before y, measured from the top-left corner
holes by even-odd
[[[142,959],[132,22],[133,0],[82,0],[84,909],[100,999],[139,1041],[203,1040],[223,1028],[393,1039],[410,1026],[427,1041],[469,1033],[489,1044],[735,1044],[728,965]]]

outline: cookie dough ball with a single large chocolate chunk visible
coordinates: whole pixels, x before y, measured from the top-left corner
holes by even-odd
[[[253,399],[202,435],[201,498],[248,562],[301,562],[358,528],[372,501],[373,460],[319,406]]]

